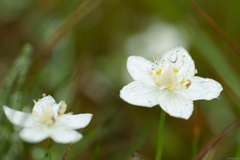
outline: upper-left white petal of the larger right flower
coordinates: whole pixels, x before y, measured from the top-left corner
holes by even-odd
[[[127,60],[127,69],[135,81],[152,81],[147,72],[151,69],[150,61],[143,57],[130,56]]]

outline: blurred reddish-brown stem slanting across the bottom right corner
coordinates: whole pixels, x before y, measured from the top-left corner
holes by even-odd
[[[240,126],[240,119],[237,119],[229,126],[227,126],[213,141],[211,141],[202,151],[196,156],[195,160],[201,160],[204,155],[213,148],[220,140],[222,140],[227,134],[230,134]]]

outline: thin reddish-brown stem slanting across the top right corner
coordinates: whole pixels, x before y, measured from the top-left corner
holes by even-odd
[[[217,25],[217,23],[202,10],[199,5],[193,0],[188,0],[188,2],[197,10],[197,12],[223,37],[223,39],[232,47],[232,49],[240,55],[239,46],[223,31],[221,27]]]

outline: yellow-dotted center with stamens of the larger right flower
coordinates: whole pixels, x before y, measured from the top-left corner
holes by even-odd
[[[178,57],[178,51],[161,61],[159,54],[157,58],[153,55],[154,61],[150,61],[152,68],[151,70],[148,69],[148,75],[153,79],[155,85],[159,86],[159,89],[167,88],[173,92],[179,87],[186,87],[187,89],[191,85],[194,75],[189,75],[190,71],[186,70],[185,57],[185,55]]]

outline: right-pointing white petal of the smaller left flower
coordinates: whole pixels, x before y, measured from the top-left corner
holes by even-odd
[[[79,129],[86,127],[92,119],[92,114],[70,115],[64,114],[57,119],[57,123],[67,126],[71,129]]]

